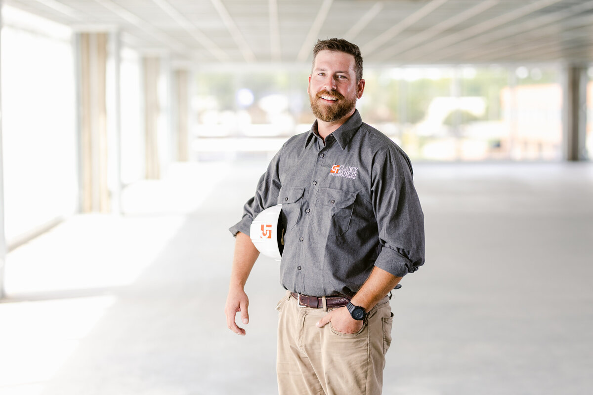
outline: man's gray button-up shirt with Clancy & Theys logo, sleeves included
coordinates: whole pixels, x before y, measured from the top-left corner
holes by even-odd
[[[378,266],[402,277],[424,263],[424,216],[406,153],[358,110],[326,137],[291,137],[260,178],[243,219],[282,204],[280,280],[310,296],[356,292]]]

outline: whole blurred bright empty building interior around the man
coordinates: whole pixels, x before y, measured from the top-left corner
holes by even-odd
[[[227,228],[310,129],[330,37],[361,47],[358,110],[426,214],[385,393],[593,385],[593,1],[0,5],[0,393],[276,392],[277,269],[231,337]]]

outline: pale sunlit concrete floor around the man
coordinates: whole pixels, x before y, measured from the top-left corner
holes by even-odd
[[[2,395],[275,394],[276,262],[225,324],[233,239],[264,162],[175,166],[8,255]],[[394,294],[385,394],[589,394],[593,164],[419,163],[426,264]]]

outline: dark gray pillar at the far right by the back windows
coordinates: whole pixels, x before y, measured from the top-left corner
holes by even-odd
[[[585,160],[586,153],[586,65],[563,69],[563,152],[565,160]]]

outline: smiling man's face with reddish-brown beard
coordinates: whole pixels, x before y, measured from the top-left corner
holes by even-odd
[[[323,50],[315,56],[307,92],[316,118],[334,122],[349,117],[361,98],[365,80],[356,81],[354,56]]]

